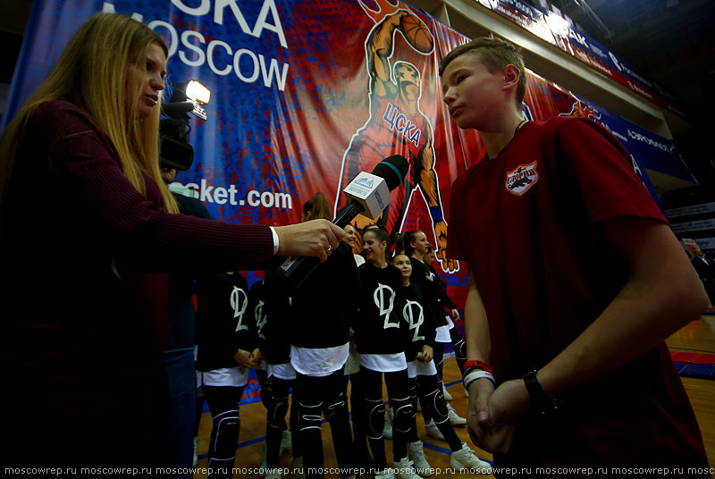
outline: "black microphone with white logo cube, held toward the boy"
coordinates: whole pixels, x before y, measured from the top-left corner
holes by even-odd
[[[332,220],[341,228],[347,226],[357,214],[363,214],[371,220],[377,219],[392,200],[391,190],[400,186],[409,169],[408,160],[402,155],[391,155],[375,165],[372,173],[360,172],[349,185],[342,190],[349,200],[348,206]],[[278,273],[284,280],[298,288],[320,264],[316,257],[290,256],[278,267]]]

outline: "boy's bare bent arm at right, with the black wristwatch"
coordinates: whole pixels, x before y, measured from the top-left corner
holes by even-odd
[[[667,224],[620,217],[601,222],[601,232],[629,265],[628,279],[593,324],[538,372],[550,397],[626,365],[708,306],[697,274]],[[531,408],[523,380],[501,384],[489,403],[492,424],[510,424]]]

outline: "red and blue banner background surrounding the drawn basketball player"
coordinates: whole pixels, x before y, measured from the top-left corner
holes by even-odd
[[[374,0],[364,4],[381,8]],[[335,201],[343,155],[370,116],[365,42],[374,20],[358,0],[36,0],[4,122],[46,77],[73,31],[103,10],[134,14],[166,39],[171,56],[165,97],[183,80],[199,80],[211,90],[206,121],[191,120],[194,164],[177,181],[195,185],[215,218],[298,223],[300,206],[316,191]],[[434,169],[449,223],[452,181],[484,156],[478,133],[458,130],[450,120],[437,73],[442,57],[468,38],[426,13],[412,12],[432,33],[433,52],[417,52],[396,33],[391,62],[409,62],[421,72],[419,105],[433,127]],[[669,140],[531,73],[524,111],[530,120],[580,114],[606,125],[634,155],[651,191],[646,168],[692,180]],[[419,189],[403,224],[404,231],[412,229],[425,231],[434,243]],[[466,268],[451,274],[436,268],[462,307]]]

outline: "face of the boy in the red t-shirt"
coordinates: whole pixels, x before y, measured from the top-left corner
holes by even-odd
[[[479,55],[466,52],[442,74],[442,96],[459,128],[491,131],[509,107],[504,72],[490,73]]]

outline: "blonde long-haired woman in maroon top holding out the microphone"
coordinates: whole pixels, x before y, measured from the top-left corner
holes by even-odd
[[[165,272],[263,269],[338,246],[325,221],[175,214],[157,152],[166,59],[151,29],[98,14],[0,139],[4,464],[151,462]]]

